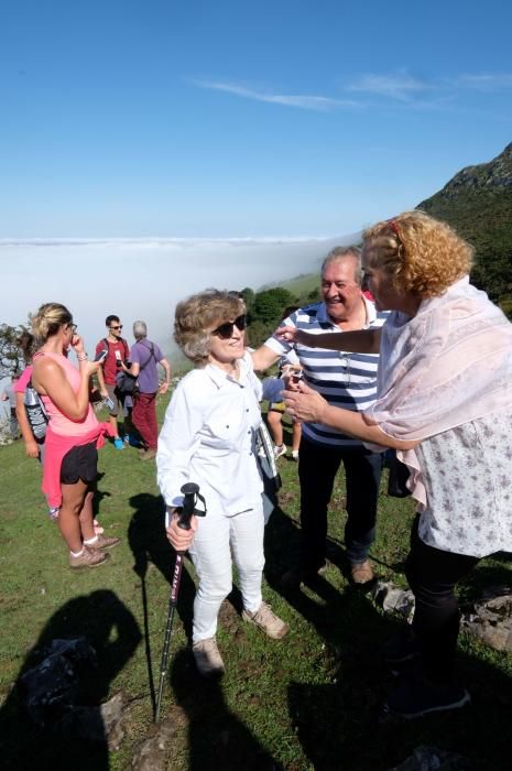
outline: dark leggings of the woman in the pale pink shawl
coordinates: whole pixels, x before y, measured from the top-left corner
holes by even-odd
[[[405,575],[414,593],[413,629],[420,642],[425,676],[448,684],[459,633],[459,606],[455,585],[479,562],[479,557],[444,552],[428,546],[418,534],[420,517],[411,533]]]

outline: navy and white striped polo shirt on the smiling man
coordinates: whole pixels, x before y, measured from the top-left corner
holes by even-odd
[[[389,313],[377,312],[374,304],[364,296],[362,296],[362,301],[367,311],[367,323],[362,328],[381,327]],[[314,335],[341,332],[330,319],[325,303],[315,303],[299,308],[285,318],[282,326],[294,326]],[[280,356],[294,348],[303,367],[304,381],[315,391],[322,393],[329,404],[364,412],[374,402],[378,354],[346,354],[325,348],[308,348],[298,343],[284,343],[275,337],[270,337],[265,341],[265,346]],[[358,447],[361,445],[358,439],[352,439],[336,428],[320,423],[304,423],[303,434],[308,441],[322,445],[337,447]]]

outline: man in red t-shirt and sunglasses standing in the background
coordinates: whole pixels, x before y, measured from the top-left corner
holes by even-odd
[[[98,370],[99,391],[104,399],[110,400],[110,425],[113,430],[113,446],[116,449],[123,449],[124,443],[119,436],[118,414],[123,412],[122,399],[119,389],[116,384],[116,376],[118,372],[128,372],[127,361],[130,356],[130,349],[127,340],[121,337],[122,324],[119,316],[111,314],[105,319],[108,329],[107,337],[104,337],[96,346],[96,356],[101,350],[107,350],[108,354],[101,367]]]

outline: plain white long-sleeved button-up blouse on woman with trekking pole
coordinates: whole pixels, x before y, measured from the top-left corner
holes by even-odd
[[[240,380],[214,365],[178,383],[165,413],[156,455],[157,484],[167,506],[182,506],[181,487],[200,487],[208,515],[261,508],[263,484],[254,455],[262,384],[249,355]]]

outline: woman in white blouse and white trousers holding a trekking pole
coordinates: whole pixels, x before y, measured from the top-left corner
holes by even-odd
[[[193,654],[205,676],[224,673],[217,616],[232,588],[231,554],[240,576],[242,618],[270,638],[287,626],[263,602],[263,484],[255,456],[262,386],[244,348],[246,307],[233,293],[206,290],[176,307],[174,337],[195,363],[178,383],[159,438],[157,481],[167,507],[167,537],[188,550],[199,585],[194,601]],[[199,485],[207,515],[177,526],[182,486]]]

